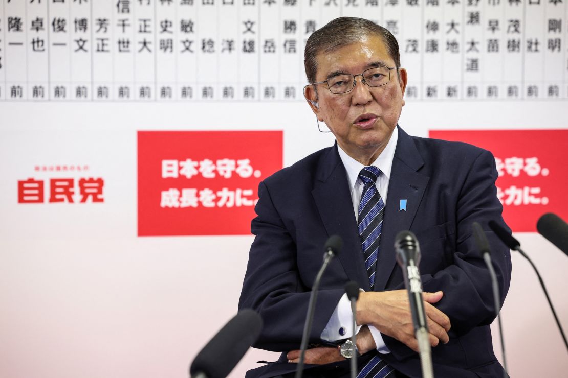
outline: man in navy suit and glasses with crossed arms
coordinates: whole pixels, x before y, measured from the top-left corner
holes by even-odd
[[[333,20],[308,39],[305,65],[311,84],[304,95],[337,142],[260,184],[239,308],[254,308],[264,320],[255,346],[283,353],[247,376],[294,372],[322,246],[337,234],[343,252],[321,282],[304,376],[348,376],[349,362],[333,345],[358,332],[352,355],[361,354],[353,357],[360,377],[420,377],[393,247],[402,230],[420,242],[435,375],[502,375],[488,326],[495,317],[490,277],[471,233],[475,221],[504,224],[492,155],[464,143],[411,137],[398,127],[407,73],[399,67],[395,38],[382,27]],[[491,232],[487,236],[503,301],[509,251]],[[345,315],[350,280],[365,291],[357,301],[356,330]]]

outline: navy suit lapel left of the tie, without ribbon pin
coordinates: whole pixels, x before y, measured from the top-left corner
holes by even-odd
[[[330,148],[320,160],[317,172],[312,196],[325,230],[329,236],[341,236],[343,250],[337,257],[345,273],[349,279],[357,281],[360,287],[369,291],[369,279],[365,270],[349,182],[345,167],[337,152],[337,145]]]

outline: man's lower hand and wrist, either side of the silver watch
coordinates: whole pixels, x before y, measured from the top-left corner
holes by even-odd
[[[367,326],[362,326],[357,334],[357,349],[361,354],[375,349],[375,340]],[[288,362],[299,362],[300,351],[293,350],[286,355]],[[328,364],[344,360],[345,358],[340,354],[339,349],[334,347],[317,347],[306,350],[304,362],[307,364]]]

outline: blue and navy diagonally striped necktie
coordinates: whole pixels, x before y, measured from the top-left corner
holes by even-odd
[[[361,193],[361,202],[359,203],[357,226],[371,289],[375,284],[383,214],[385,214],[385,202],[383,202],[381,194],[377,190],[377,186],[375,186],[375,182],[377,182],[380,175],[381,170],[373,167],[373,165],[364,167],[359,173],[359,178],[364,185]],[[387,365],[378,355],[375,355],[359,372],[357,378],[385,378],[392,371],[392,367]]]

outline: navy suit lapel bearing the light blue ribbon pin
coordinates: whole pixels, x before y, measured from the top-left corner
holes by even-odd
[[[398,127],[398,126],[397,126]],[[403,230],[410,230],[416,210],[428,185],[428,176],[417,172],[424,165],[412,138],[399,130],[394,160],[389,180],[389,196],[385,207],[385,218],[381,233],[381,247],[377,260],[374,290],[385,290],[392,270],[396,265],[394,250],[395,236]],[[406,211],[400,210],[400,201],[406,199]]]

